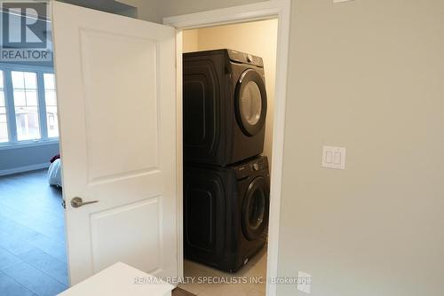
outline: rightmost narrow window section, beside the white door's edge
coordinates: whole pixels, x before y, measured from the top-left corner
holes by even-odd
[[[54,74],[51,73],[44,74],[44,100],[46,103],[46,124],[48,127],[48,137],[59,136],[55,80]]]

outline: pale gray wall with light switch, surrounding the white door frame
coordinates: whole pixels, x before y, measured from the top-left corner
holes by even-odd
[[[159,0],[151,20],[250,2]],[[443,15],[292,1],[279,273],[312,274],[315,296],[444,294]],[[323,144],[347,147],[345,171],[320,167]]]

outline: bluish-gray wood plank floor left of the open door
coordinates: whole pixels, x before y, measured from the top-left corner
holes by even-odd
[[[0,295],[53,296],[67,289],[61,200],[45,169],[0,176]]]

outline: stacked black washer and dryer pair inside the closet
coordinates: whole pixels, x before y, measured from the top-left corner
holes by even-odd
[[[185,257],[234,272],[266,243],[264,63],[199,51],[184,54],[183,73]]]

